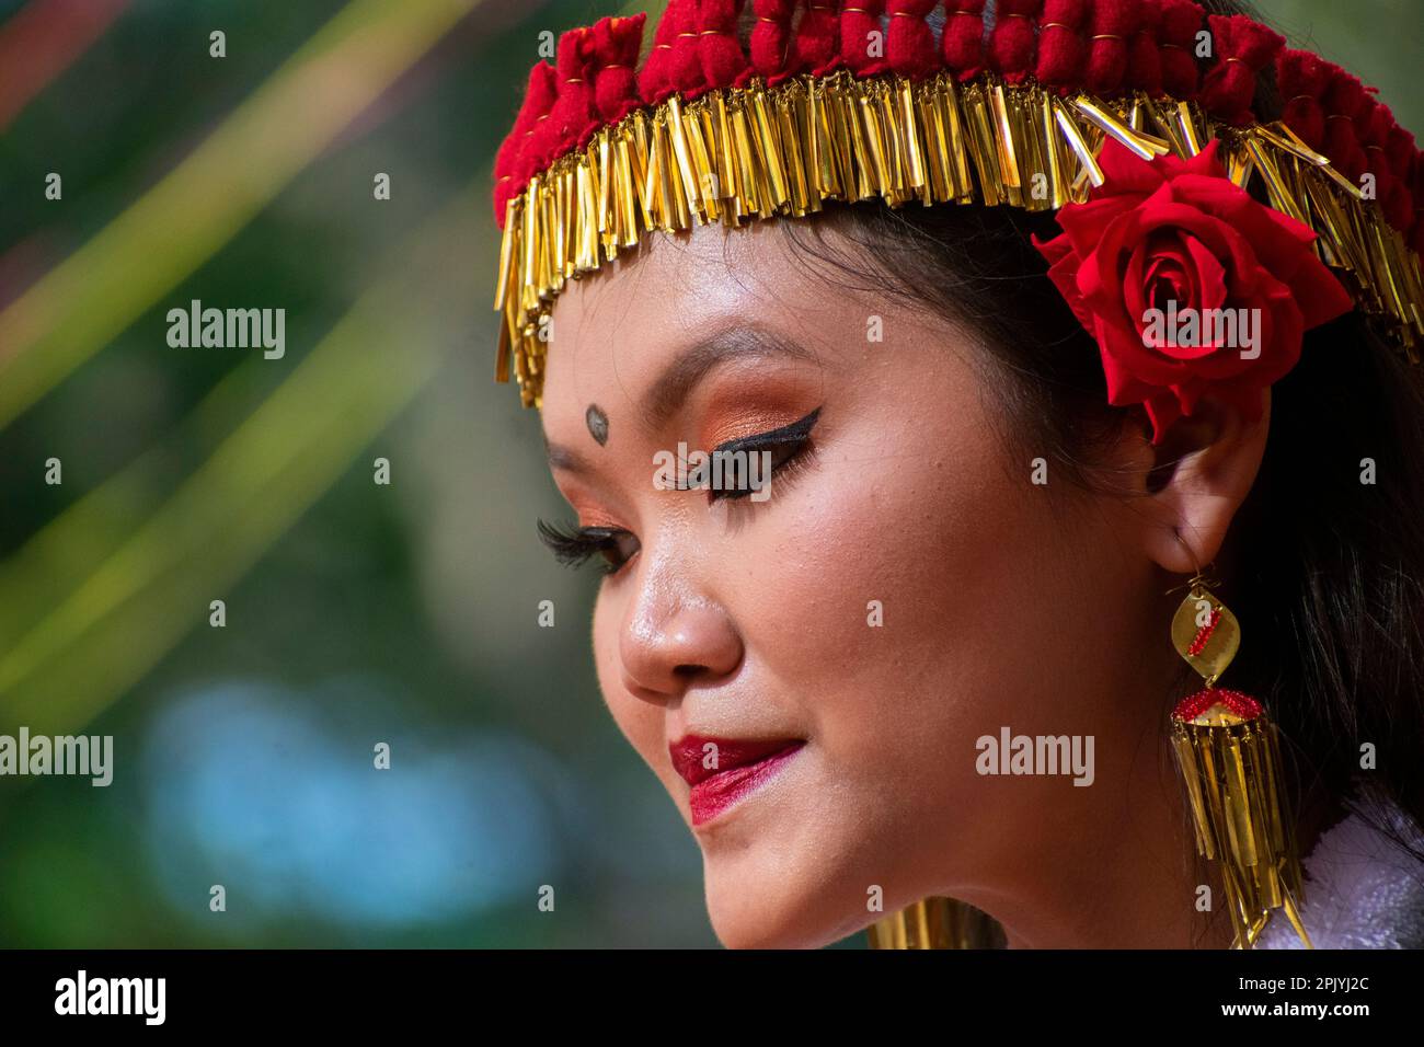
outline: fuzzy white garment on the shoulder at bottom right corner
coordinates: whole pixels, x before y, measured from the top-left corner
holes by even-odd
[[[1393,803],[1360,802],[1424,852],[1424,832]],[[1320,835],[1303,863],[1300,922],[1316,949],[1424,949],[1424,860],[1356,811]],[[1304,949],[1272,915],[1257,949]]]

